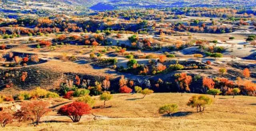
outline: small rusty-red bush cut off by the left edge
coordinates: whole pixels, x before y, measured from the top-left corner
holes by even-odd
[[[5,127],[6,124],[12,123],[14,120],[12,111],[0,111],[0,124],[1,127]]]

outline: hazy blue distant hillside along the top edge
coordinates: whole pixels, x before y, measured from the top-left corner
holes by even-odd
[[[88,0],[89,1],[89,0]],[[91,6],[92,10],[163,7],[255,6],[256,0],[106,0]]]

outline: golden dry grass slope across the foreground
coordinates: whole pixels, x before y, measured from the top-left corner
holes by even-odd
[[[154,93],[141,99],[141,94],[114,94],[106,102],[111,108],[92,110],[94,115],[104,116],[98,120],[85,115],[79,123],[68,118],[65,122],[42,122],[36,127],[13,123],[0,131],[256,131],[256,97],[209,95],[214,103],[197,113],[196,108],[186,106],[193,95]],[[103,104],[98,96],[94,98],[95,106]],[[179,106],[172,119],[158,113],[160,106],[169,103]]]

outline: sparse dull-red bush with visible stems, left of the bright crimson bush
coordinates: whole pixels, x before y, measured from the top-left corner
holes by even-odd
[[[33,125],[38,125],[40,118],[51,110],[48,108],[49,102],[32,101],[22,102],[21,108],[14,114],[19,121],[32,121]],[[36,122],[36,125],[35,123]]]

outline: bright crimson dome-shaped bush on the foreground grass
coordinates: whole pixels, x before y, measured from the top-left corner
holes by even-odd
[[[58,110],[58,114],[66,115],[72,119],[73,122],[80,121],[82,115],[89,114],[90,106],[84,102],[73,102],[71,104],[62,106]]]

